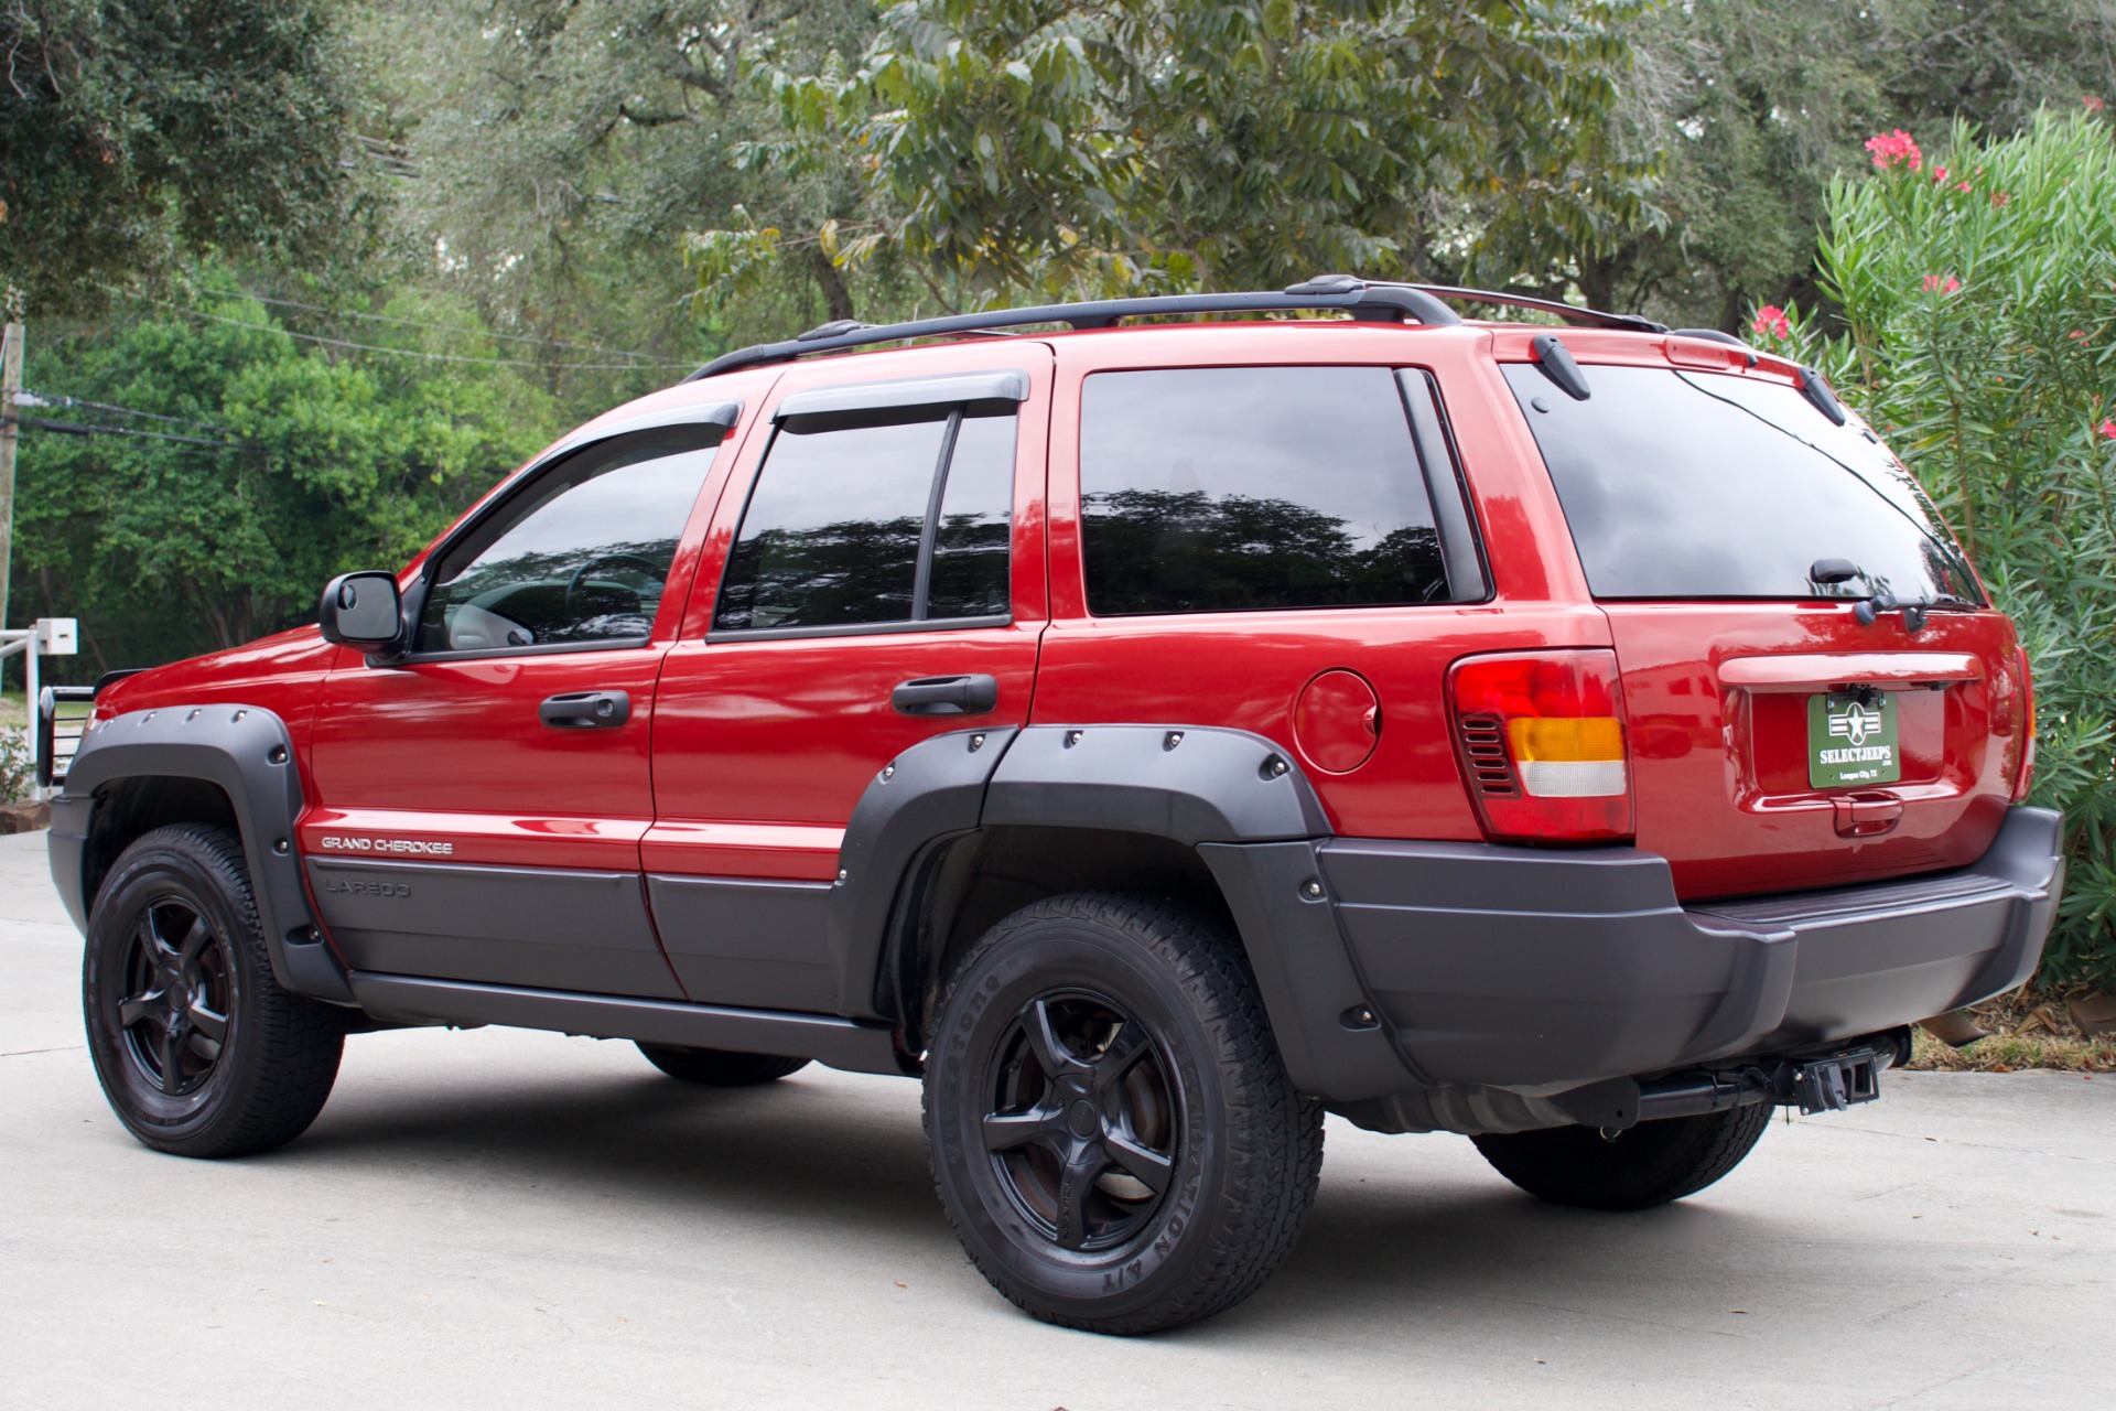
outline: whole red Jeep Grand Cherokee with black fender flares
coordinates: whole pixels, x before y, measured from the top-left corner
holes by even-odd
[[[1325,1111],[1636,1210],[1873,1098],[2050,922],[2012,624],[1816,372],[1466,294],[832,324],[106,681],[118,1117],[262,1151],[402,1024],[914,1075],[986,1278],[1143,1333],[1270,1276]]]

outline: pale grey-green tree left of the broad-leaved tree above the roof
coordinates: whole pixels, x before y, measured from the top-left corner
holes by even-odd
[[[499,328],[696,366],[851,317],[859,281],[874,286],[815,237],[857,218],[853,152],[804,169],[736,161],[779,135],[751,74],[842,68],[874,34],[870,0],[436,0],[372,8],[360,34],[379,133],[402,152],[411,256]],[[808,239],[700,322],[683,235],[703,228]],[[601,383],[603,400],[645,391]],[[592,377],[554,387],[597,396]]]

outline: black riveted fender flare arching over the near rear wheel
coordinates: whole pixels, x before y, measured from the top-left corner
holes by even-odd
[[[973,745],[975,743],[975,745]],[[1238,937],[1295,1083],[1329,1098],[1405,1085],[1320,888],[1331,836],[1272,740],[1196,726],[1030,726],[929,738],[846,827],[832,895],[840,1011],[925,1047],[952,956],[1069,891],[1174,897]]]

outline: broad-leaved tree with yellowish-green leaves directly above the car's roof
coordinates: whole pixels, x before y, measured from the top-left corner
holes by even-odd
[[[1648,218],[1606,118],[1636,0],[895,0],[857,74],[760,66],[770,165],[865,169],[861,233],[942,300],[1270,288],[1331,269],[1549,283]],[[760,241],[694,241],[713,290]],[[770,245],[770,241],[766,241]]]

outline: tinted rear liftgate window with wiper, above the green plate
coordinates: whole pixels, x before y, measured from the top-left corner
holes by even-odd
[[[1574,402],[1504,366],[1598,599],[1983,601],[1923,491],[1856,421],[1761,377],[1585,372],[1593,396]],[[1864,580],[1816,584],[1818,558]]]

